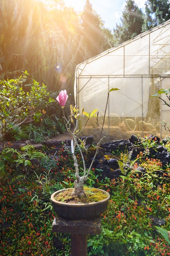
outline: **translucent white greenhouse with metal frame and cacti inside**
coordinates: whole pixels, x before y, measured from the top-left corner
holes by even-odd
[[[74,95],[80,110],[98,109],[102,124],[109,90],[120,89],[109,93],[104,125],[108,141],[132,134],[163,138],[169,135],[163,125],[170,127],[170,108],[150,96],[169,87],[170,20],[77,65]],[[83,135],[97,140],[100,130],[92,118]]]

